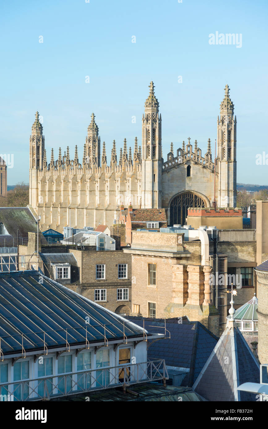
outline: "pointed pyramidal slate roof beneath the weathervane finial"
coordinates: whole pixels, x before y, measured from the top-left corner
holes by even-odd
[[[193,389],[208,401],[256,401],[256,395],[237,390],[246,381],[259,382],[259,364],[236,323],[228,319]]]

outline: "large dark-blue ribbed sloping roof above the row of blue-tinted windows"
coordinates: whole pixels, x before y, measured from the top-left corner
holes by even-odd
[[[40,278],[43,281],[40,282]],[[89,323],[85,323],[85,317]],[[124,328],[125,323],[125,328]],[[104,341],[143,338],[143,329],[37,271],[0,273],[0,337],[3,354]],[[151,335],[151,334],[147,334]]]

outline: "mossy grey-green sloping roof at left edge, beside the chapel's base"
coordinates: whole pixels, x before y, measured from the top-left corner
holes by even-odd
[[[16,245],[17,231],[22,238],[28,238],[28,232],[37,232],[37,220],[28,207],[0,207],[0,222],[3,222],[9,233],[9,236],[0,236],[1,245],[5,241],[6,246],[13,246],[13,239]],[[41,242],[47,244],[43,235]]]

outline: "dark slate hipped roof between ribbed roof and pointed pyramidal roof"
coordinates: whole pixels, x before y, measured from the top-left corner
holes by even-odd
[[[148,332],[164,333],[164,319],[127,316],[128,320],[143,326]],[[178,318],[166,319],[166,329],[171,338],[154,342],[148,348],[149,359],[165,359],[166,365],[189,368],[190,372],[182,382],[182,386],[192,386],[201,369],[215,347],[218,337],[210,332],[200,322],[191,322],[183,317],[183,323]],[[166,336],[169,336],[166,333]]]

